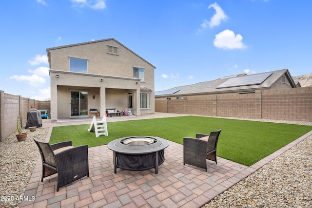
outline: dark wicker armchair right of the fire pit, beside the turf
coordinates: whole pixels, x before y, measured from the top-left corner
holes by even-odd
[[[203,168],[207,172],[206,159],[216,161],[216,146],[218,143],[218,131],[212,131],[209,135],[196,133],[196,138],[183,138],[183,165],[189,164]]]

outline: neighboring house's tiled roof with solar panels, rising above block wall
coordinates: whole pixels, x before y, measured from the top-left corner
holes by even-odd
[[[225,93],[254,93],[255,90],[299,87],[288,69],[253,75],[239,74],[225,76],[212,81],[199,82],[155,92],[156,100],[179,99],[186,95],[208,95]]]

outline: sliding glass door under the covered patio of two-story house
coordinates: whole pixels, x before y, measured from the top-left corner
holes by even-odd
[[[88,92],[83,91],[70,92],[70,116],[71,117],[88,116]]]

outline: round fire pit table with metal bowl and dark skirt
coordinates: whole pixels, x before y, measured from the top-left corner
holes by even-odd
[[[108,143],[113,151],[114,172],[117,168],[124,170],[148,170],[165,161],[165,148],[169,146],[166,139],[157,136],[123,137]]]

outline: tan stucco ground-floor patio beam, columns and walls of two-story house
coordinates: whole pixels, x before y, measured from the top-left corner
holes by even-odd
[[[56,75],[59,75],[59,78],[56,78]],[[98,76],[64,73],[64,71],[50,71],[50,76],[52,120],[70,117],[70,91],[87,90],[88,109],[98,109],[101,116],[108,108],[106,107],[107,104],[113,105],[111,104],[113,101],[110,101],[111,97],[113,97],[113,100],[118,101],[117,106],[122,110],[127,107],[127,91],[140,92],[140,85],[137,84],[138,80],[133,78],[105,77],[103,81],[100,81]],[[77,83],[79,86],[76,85]],[[53,86],[55,90],[52,90]],[[110,95],[111,93],[117,93],[117,95]],[[93,95],[96,96],[95,99],[93,99]],[[121,99],[124,99],[124,101],[120,102]],[[134,104],[137,106],[136,103]],[[135,110],[137,111],[137,109]],[[140,115],[139,111],[136,113]]]

